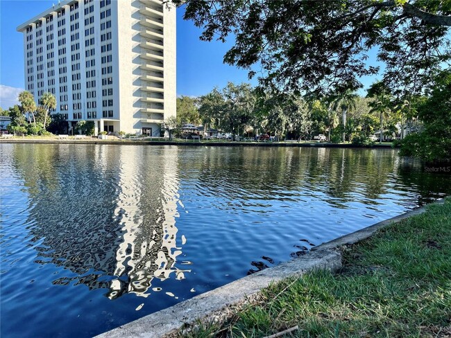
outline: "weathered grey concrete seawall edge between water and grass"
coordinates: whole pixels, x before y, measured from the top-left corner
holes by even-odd
[[[443,204],[443,201],[436,203]],[[346,244],[355,244],[370,237],[385,226],[400,222],[413,215],[419,215],[424,213],[425,210],[425,207],[418,208],[330,242],[325,242],[314,247],[312,251],[300,258],[295,258],[287,263],[281,263],[275,267],[251,274],[210,292],[205,292],[192,299],[173,305],[171,308],[149,314],[124,326],[119,326],[119,328],[105,332],[97,337],[164,337],[173,334],[182,326],[192,325],[196,322],[196,319],[201,319],[203,322],[222,321],[236,310],[242,308],[246,303],[255,299],[259,291],[271,283],[292,276],[302,276],[312,269],[339,269],[341,267],[341,254],[337,248]]]

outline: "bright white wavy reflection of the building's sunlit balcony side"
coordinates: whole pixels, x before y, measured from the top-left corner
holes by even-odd
[[[130,147],[130,150],[136,150]],[[124,148],[123,148],[124,149]],[[114,276],[108,297],[114,299],[124,292],[133,292],[138,296],[148,296],[153,278],[164,280],[175,275],[185,278],[190,270],[175,266],[177,256],[182,253],[177,246],[176,218],[178,177],[177,156],[161,154],[164,163],[153,171],[153,175],[140,176],[146,172],[143,166],[148,163],[136,161],[142,154],[127,150],[121,152],[119,195],[114,215],[121,224],[122,241],[116,251]],[[158,172],[158,177],[155,177]],[[135,204],[136,197],[139,202]],[[185,237],[182,236],[185,242]],[[126,278],[121,278],[126,276]]]

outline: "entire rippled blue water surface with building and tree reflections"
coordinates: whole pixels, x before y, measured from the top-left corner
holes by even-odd
[[[90,337],[451,193],[395,150],[0,151],[1,337]]]

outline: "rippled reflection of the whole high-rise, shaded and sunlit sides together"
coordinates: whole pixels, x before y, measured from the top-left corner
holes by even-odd
[[[28,192],[28,231],[39,252],[35,263],[71,272],[54,284],[107,288],[114,298],[124,292],[146,296],[153,278],[172,273],[183,278],[175,267],[180,254],[174,219],[178,181],[171,168],[176,159],[163,148],[157,154],[138,149],[144,151],[76,145],[14,148],[15,167]]]

